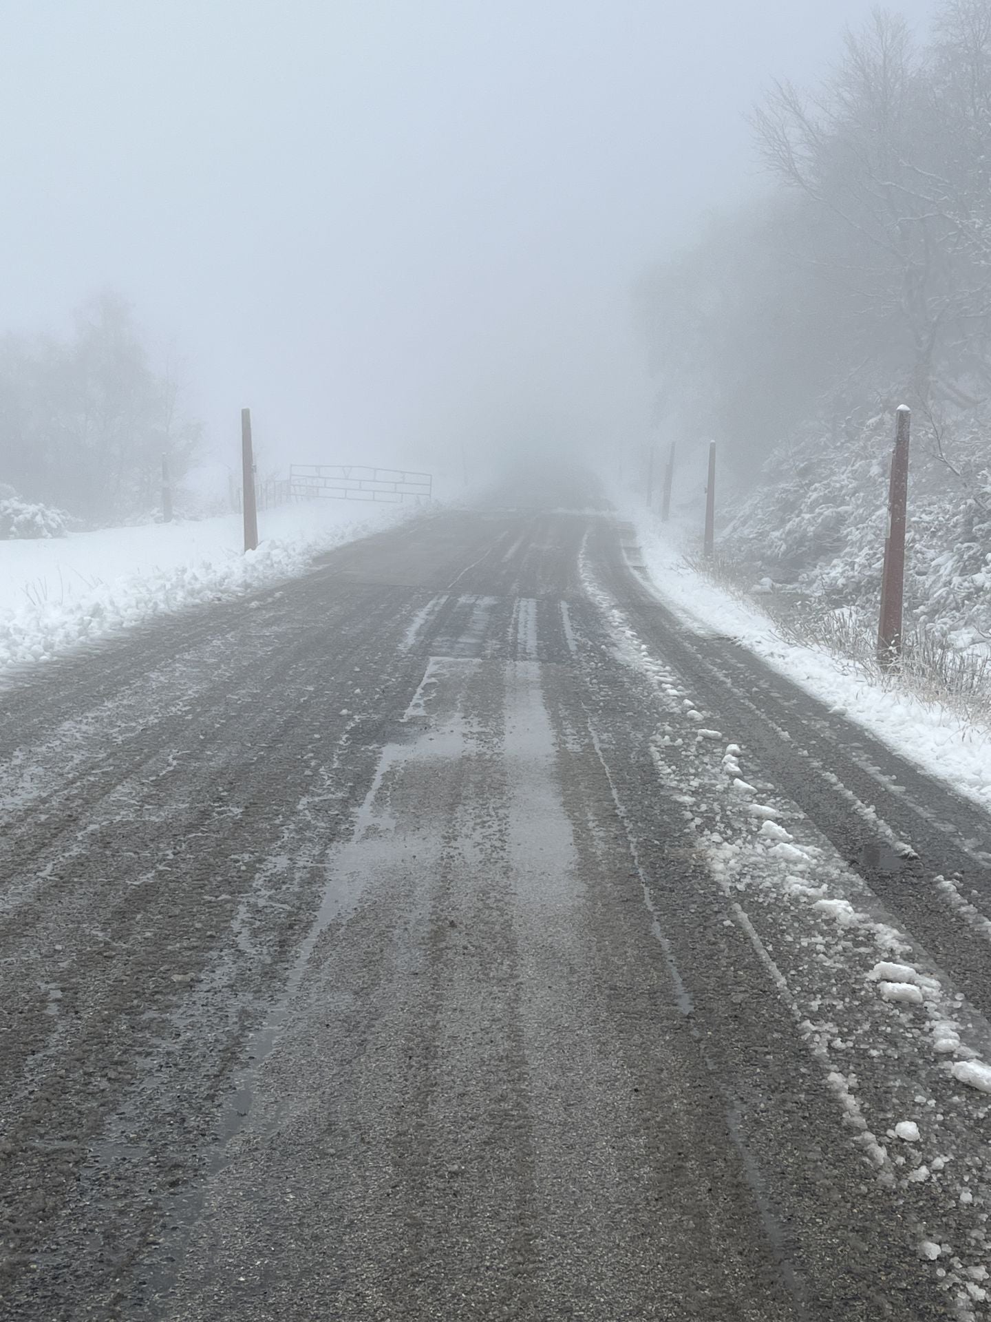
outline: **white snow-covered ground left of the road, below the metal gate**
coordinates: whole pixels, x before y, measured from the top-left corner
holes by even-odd
[[[285,505],[259,514],[262,545],[247,554],[237,516],[0,541],[0,670],[251,592],[416,513],[414,505],[329,500]]]

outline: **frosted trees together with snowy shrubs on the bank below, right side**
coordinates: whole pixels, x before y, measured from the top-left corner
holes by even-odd
[[[893,410],[913,407],[908,607],[991,636],[991,5],[932,41],[877,13],[814,94],[753,115],[776,186],[650,274],[641,313],[671,435],[756,486],[724,553],[869,617]]]

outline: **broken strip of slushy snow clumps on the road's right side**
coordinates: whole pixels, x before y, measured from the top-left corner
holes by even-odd
[[[954,1315],[987,1317],[991,1023],[805,813],[747,767],[733,732],[707,738],[712,714],[650,653],[584,554],[580,568],[614,654],[653,689],[658,780],[699,841],[727,921],[818,1062],[864,1177],[888,1191]]]

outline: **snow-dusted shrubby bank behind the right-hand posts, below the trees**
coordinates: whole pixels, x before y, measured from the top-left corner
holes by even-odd
[[[954,648],[991,639],[991,423],[984,422],[970,418],[949,436],[922,416],[913,423],[908,621]],[[892,438],[885,414],[838,435],[809,427],[780,447],[723,531],[724,557],[754,579],[768,575],[875,620]]]

